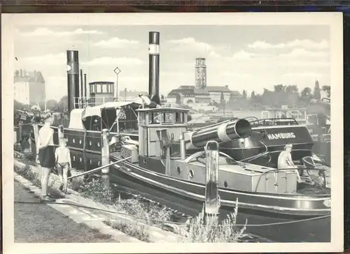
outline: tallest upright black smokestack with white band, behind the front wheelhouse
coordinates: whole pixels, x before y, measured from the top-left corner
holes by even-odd
[[[159,52],[160,52],[160,34],[159,32],[149,32],[149,83],[148,96],[149,98],[160,105],[159,96]]]

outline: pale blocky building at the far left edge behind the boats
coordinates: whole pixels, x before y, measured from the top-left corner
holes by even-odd
[[[15,100],[26,105],[45,104],[45,80],[40,71],[15,70]]]

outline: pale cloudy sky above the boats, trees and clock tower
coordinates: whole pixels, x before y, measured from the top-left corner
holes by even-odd
[[[148,31],[160,32],[160,94],[195,85],[195,59],[207,59],[207,85],[255,94],[276,84],[330,84],[327,26],[31,26],[15,30],[16,69],[39,70],[47,98],[67,94],[66,50],[78,50],[87,82],[148,91]]]

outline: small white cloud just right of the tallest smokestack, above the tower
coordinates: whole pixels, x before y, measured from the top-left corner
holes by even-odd
[[[183,52],[202,52],[207,53],[213,51],[214,48],[208,43],[202,43],[195,40],[195,38],[182,38],[179,40],[167,40],[165,43],[172,45],[172,50],[183,51]]]

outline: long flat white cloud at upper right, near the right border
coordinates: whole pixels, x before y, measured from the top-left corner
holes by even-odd
[[[271,44],[265,42],[265,40],[256,40],[253,44],[248,45],[248,47],[255,50],[283,49],[290,47],[324,50],[329,47],[329,43],[327,40],[321,40],[320,42],[315,42],[313,40],[292,40],[288,43]]]

